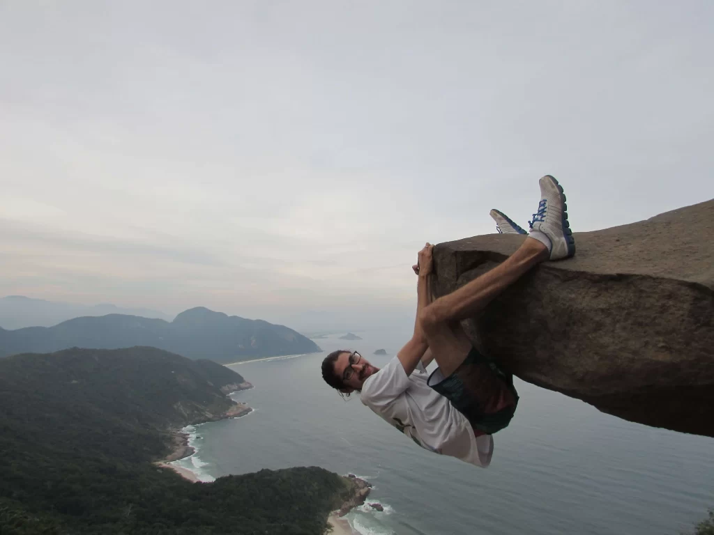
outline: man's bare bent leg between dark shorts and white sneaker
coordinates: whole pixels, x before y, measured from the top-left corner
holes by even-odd
[[[454,322],[475,315],[531,267],[548,260],[548,257],[548,248],[543,243],[526,238],[506,261],[455,292],[439,297],[421,311],[421,327],[445,377],[456,371],[471,351],[471,342],[465,333],[457,335],[449,324],[453,326]],[[458,328],[461,329],[461,325]]]

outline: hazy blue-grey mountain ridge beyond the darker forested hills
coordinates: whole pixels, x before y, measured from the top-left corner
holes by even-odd
[[[0,357],[70,347],[117,349],[136,345],[215,362],[320,351],[315,342],[283,325],[228,316],[203,307],[181,312],[173,322],[110,314],[76,317],[54,327],[0,328]]]

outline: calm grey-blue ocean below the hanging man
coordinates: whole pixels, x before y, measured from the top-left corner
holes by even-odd
[[[625,422],[518,379],[491,467],[426,452],[324,384],[328,352],[356,349],[380,367],[410,335],[356,334],[315,340],[320,354],[232,366],[255,387],[233,398],[253,412],[191,427],[196,454],[177,464],[203,481],[298,466],[357,474],[374,485],[368,503],[384,507],[348,514],[362,535],[677,535],[714,506],[714,439]],[[372,355],[379,348],[388,355]]]

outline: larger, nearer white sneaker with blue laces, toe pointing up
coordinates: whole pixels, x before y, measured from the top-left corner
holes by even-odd
[[[531,236],[545,245],[550,242],[550,260],[568,258],[575,254],[575,238],[568,223],[568,205],[563,188],[550,175],[540,179],[540,204],[533,214]]]

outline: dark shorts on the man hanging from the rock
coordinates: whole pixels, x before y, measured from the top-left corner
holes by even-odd
[[[476,434],[493,434],[508,427],[518,406],[513,374],[471,349],[449,377],[440,370],[429,376],[428,385],[446,397],[471,423]]]

